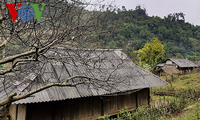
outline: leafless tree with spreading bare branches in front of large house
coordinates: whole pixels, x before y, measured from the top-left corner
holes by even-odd
[[[22,17],[26,19],[26,14],[29,14],[30,11],[23,13],[23,16],[18,15],[14,21],[6,4],[15,4],[16,12],[19,7],[18,4],[39,4],[39,11],[44,10],[39,21],[36,17],[33,17],[30,21],[23,20]],[[45,6],[42,6],[42,4],[45,4]],[[73,60],[85,65],[89,65],[90,61],[100,61],[99,57],[89,57],[89,53],[87,55],[81,53],[80,50],[79,52],[73,52],[73,55],[65,55],[62,52],[57,53],[58,51],[55,49],[53,56],[49,52],[50,48],[60,46],[76,50],[87,48],[87,45],[91,47],[89,43],[90,35],[106,32],[100,29],[103,27],[101,24],[102,22],[107,22],[108,11],[114,10],[111,6],[105,7],[104,5],[104,7],[100,8],[99,5],[100,3],[91,4],[83,0],[1,0],[0,33],[2,41],[0,50],[4,50],[4,56],[6,56],[0,60],[1,78],[5,78],[7,74],[12,73],[15,78],[9,78],[10,80],[21,79],[22,81],[23,79],[20,76],[30,71],[34,71],[35,74],[32,77],[35,78],[49,61],[63,63],[63,61],[67,62],[69,58],[72,59],[73,57],[76,58],[73,58]],[[56,57],[55,54],[62,55]],[[93,67],[97,66],[96,62],[93,63]],[[107,80],[110,75],[104,76],[102,79]],[[86,76],[84,74],[70,76],[64,81],[57,79],[50,82],[51,80],[49,79],[48,82],[43,83],[43,86],[35,90],[30,89],[30,91],[26,91],[21,95],[17,95],[17,92],[8,94],[6,99],[0,101],[0,109],[1,111],[5,111],[12,102],[30,97],[34,93],[52,86],[74,87],[86,82],[84,80],[73,83],[69,82],[76,78],[84,78],[84,80],[87,79],[89,82],[94,82],[95,80],[102,81],[101,78]],[[101,85],[96,86],[102,87]]]

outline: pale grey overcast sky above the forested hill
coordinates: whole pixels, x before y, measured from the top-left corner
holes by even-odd
[[[169,13],[183,12],[187,22],[200,25],[200,0],[115,0],[115,4],[120,8],[125,6],[127,10],[141,5],[149,16],[161,18]]]

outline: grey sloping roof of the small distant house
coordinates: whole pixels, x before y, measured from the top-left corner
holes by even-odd
[[[177,64],[179,67],[198,67],[198,65],[188,59],[170,58],[169,60]]]

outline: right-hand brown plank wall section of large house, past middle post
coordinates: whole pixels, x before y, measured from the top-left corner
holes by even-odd
[[[103,99],[104,115],[116,115],[126,107],[128,110],[134,110],[139,106],[147,105],[149,102],[149,88],[129,95],[108,96],[103,97]]]

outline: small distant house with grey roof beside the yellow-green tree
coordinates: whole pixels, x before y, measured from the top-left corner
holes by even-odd
[[[188,73],[198,67],[198,65],[194,64],[192,61],[180,58],[169,58],[164,63],[158,64],[157,66],[160,68],[164,66],[173,66],[180,71],[180,74]]]

